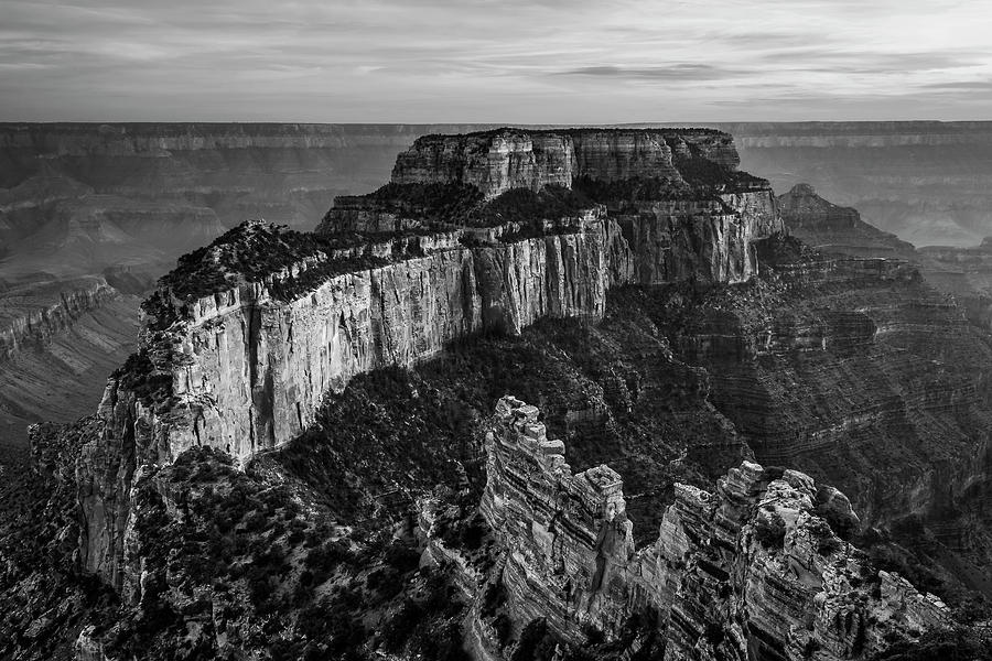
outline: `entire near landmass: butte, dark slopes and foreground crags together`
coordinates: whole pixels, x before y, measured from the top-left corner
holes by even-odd
[[[989,335],[736,164],[428,137],[183,257],[6,483],[0,653],[988,658]]]

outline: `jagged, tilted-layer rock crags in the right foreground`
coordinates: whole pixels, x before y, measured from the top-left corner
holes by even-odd
[[[676,485],[654,544],[635,550],[621,476],[573,474],[539,411],[511,397],[487,436],[482,512],[504,546],[507,609],[567,640],[616,639],[649,609],[665,658],[867,659],[948,622],[947,607],[878,571],[840,534],[842,494],[745,462],[714,492]]]

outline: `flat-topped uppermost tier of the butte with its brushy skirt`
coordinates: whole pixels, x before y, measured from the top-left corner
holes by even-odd
[[[337,197],[319,231],[492,226],[595,203],[720,203],[723,194],[768,189],[738,172],[738,161],[733,139],[709,129],[424,136],[399,155],[390,183]]]

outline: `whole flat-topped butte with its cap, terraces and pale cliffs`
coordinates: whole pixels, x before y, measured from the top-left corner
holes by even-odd
[[[85,565],[123,579],[126,494],[145,462],[201,445],[245,460],[355,375],[484,330],[602,317],[613,285],[747,280],[752,242],[780,221],[735,164],[711,130],[427,137],[360,216],[421,218],[398,236],[369,231],[381,220],[356,220],[347,199],[347,232],[332,209],[315,235],[247,224],[184,257],[144,304],[140,353],[84,451]]]

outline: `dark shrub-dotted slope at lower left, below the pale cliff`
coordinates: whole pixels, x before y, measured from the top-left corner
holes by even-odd
[[[342,528],[291,476],[209,449],[143,476],[136,495],[142,599],[95,632],[111,655],[464,659],[449,625],[461,606],[443,572],[418,568],[409,530]]]

